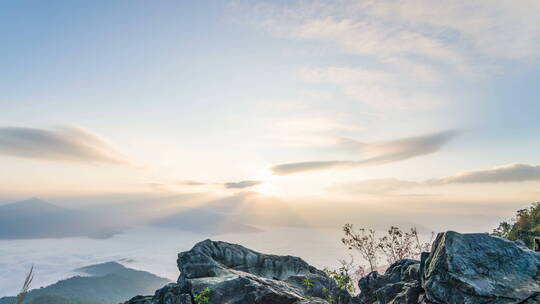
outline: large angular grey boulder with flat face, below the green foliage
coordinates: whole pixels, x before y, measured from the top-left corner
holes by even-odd
[[[425,303],[540,303],[540,253],[515,242],[448,231],[422,264]]]

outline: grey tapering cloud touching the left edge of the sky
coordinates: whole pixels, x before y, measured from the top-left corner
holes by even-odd
[[[0,127],[0,154],[48,161],[129,164],[104,139],[80,128]]]

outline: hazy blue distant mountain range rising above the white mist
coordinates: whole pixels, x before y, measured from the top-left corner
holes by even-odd
[[[0,205],[0,240],[108,238],[127,226],[136,225],[177,229],[201,235],[260,231],[234,220],[229,210],[233,203],[222,205],[178,207],[165,215],[150,219],[131,219],[130,210],[133,205],[130,203],[112,204],[110,208],[88,211],[60,207],[39,198],[31,198]]]

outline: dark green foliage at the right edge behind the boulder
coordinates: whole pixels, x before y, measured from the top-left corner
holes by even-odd
[[[540,237],[540,202],[533,203],[527,209],[518,210],[515,218],[510,222],[500,223],[492,234],[512,241],[522,240],[532,248],[534,237]]]

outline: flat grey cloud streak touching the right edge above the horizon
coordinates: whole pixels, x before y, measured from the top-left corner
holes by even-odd
[[[432,179],[428,184],[508,183],[540,180],[540,166],[510,164],[487,170],[466,171]]]

